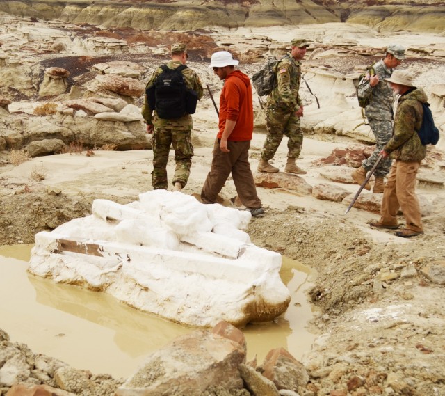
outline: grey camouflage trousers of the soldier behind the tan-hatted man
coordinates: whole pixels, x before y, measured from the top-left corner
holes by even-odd
[[[367,171],[371,171],[375,161],[378,159],[378,154],[388,143],[392,136],[392,120],[375,120],[375,118],[368,118],[369,126],[375,136],[375,149],[371,157],[366,158],[362,165]],[[391,158],[382,158],[374,171],[375,177],[385,177],[391,169]]]

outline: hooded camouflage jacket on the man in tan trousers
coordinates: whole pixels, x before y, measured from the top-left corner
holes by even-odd
[[[392,159],[420,162],[426,156],[417,131],[422,125],[422,103],[428,98],[422,88],[414,88],[398,99],[394,130],[384,149]]]

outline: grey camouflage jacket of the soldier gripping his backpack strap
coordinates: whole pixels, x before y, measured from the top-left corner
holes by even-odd
[[[371,102],[364,109],[366,117],[375,120],[392,120],[394,95],[387,82],[383,80],[391,77],[392,69],[386,67],[383,59],[375,63],[373,69],[380,79],[378,84],[372,87],[369,85],[369,81],[366,81],[365,84],[360,84],[358,88],[359,97],[371,95]]]

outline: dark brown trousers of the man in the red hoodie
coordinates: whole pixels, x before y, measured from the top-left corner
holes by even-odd
[[[227,141],[230,152],[222,152],[218,139],[213,146],[213,159],[210,172],[202,186],[201,198],[207,203],[216,203],[216,198],[223,189],[230,173],[236,192],[246,207],[261,207],[257,188],[249,164],[250,141]]]

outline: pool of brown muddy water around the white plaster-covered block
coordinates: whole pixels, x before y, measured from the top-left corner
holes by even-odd
[[[152,351],[194,328],[139,312],[108,294],[60,285],[26,272],[32,245],[0,246],[0,328],[12,342],[78,369],[129,377]],[[315,335],[306,330],[313,307],[305,292],[314,274],[283,258],[281,276],[291,304],[273,322],[243,328],[248,361],[261,363],[270,349],[284,347],[296,358]]]

